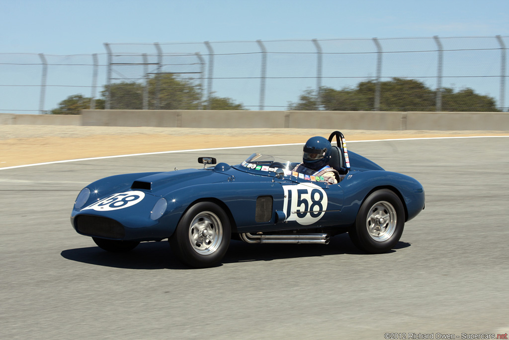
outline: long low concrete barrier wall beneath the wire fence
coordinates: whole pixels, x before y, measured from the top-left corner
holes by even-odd
[[[81,115],[0,114],[0,124],[207,128],[509,131],[507,112],[83,110]]]

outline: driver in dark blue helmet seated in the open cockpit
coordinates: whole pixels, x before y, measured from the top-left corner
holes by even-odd
[[[309,175],[323,176],[328,184],[336,184],[340,173],[329,166],[331,148],[330,142],[323,137],[309,138],[304,145],[302,163],[294,171],[307,173],[310,169],[312,173]]]

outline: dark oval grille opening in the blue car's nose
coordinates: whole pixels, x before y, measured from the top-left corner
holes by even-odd
[[[79,215],[76,217],[76,230],[88,236],[97,236],[108,239],[123,239],[124,226],[119,222],[106,217]]]

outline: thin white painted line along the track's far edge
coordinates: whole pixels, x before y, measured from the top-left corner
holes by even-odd
[[[500,138],[500,137],[509,137],[509,136],[470,136],[470,137],[468,137],[468,136],[467,137],[466,136],[461,136],[461,137],[422,137],[422,138],[373,139],[373,140],[365,140],[365,141],[347,141],[347,144],[349,144],[349,143],[363,143],[363,142],[415,141],[415,140],[427,140],[427,139]],[[16,165],[16,166],[12,166],[12,167],[0,168],[0,170],[16,169],[16,168],[24,168],[24,167],[33,167],[33,166],[36,166],[36,165],[47,165],[47,164],[79,162],[79,161],[92,161],[92,160],[104,160],[104,159],[109,159],[109,158],[143,156],[143,155],[163,154],[163,153],[195,152],[195,151],[211,151],[211,150],[232,150],[232,149],[247,149],[247,148],[255,148],[255,147],[289,146],[289,145],[303,145],[303,143],[250,145],[250,146],[230,146],[230,147],[220,147],[220,148],[187,149],[187,150],[173,150],[173,151],[158,151],[158,152],[120,154],[120,155],[116,155],[116,156],[80,158],[80,159],[75,159],[75,160],[53,161],[53,162],[44,162],[44,163],[35,163],[35,164]]]

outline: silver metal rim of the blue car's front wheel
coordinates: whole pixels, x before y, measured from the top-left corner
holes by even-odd
[[[189,242],[201,255],[212,254],[222,240],[221,220],[212,212],[202,212],[194,217],[189,227]]]

